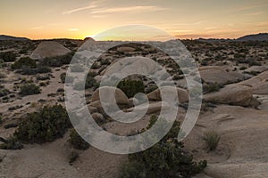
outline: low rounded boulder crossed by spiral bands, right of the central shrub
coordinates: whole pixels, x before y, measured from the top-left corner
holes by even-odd
[[[160,89],[157,88],[155,91],[148,93],[147,94],[148,100],[149,101],[162,101],[160,90],[162,90],[163,93],[172,94],[172,86],[162,86]],[[177,90],[178,95],[173,95],[173,96],[170,96],[169,98],[172,98],[173,101],[178,101],[178,97],[179,97],[180,103],[187,102],[188,92],[178,87],[176,88],[176,90]]]

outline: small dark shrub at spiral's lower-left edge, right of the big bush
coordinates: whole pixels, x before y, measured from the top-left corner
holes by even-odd
[[[78,150],[87,150],[89,148],[88,142],[84,141],[74,128],[71,129],[70,139],[68,142],[70,142],[71,145]]]

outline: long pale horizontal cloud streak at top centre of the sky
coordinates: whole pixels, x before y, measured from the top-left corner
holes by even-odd
[[[91,13],[114,13],[114,12],[155,12],[163,11],[166,8],[157,7],[154,5],[137,5],[137,6],[126,6],[126,7],[113,7],[105,9],[94,9]]]

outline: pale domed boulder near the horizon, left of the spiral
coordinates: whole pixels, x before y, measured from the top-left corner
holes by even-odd
[[[30,54],[29,57],[33,60],[39,60],[65,55],[70,52],[71,51],[64,47],[63,44],[47,41],[38,44],[38,47]]]

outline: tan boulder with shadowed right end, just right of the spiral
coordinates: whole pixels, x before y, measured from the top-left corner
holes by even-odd
[[[252,87],[247,85],[226,85],[219,92],[205,94],[203,99],[238,106],[257,105],[253,98]]]

